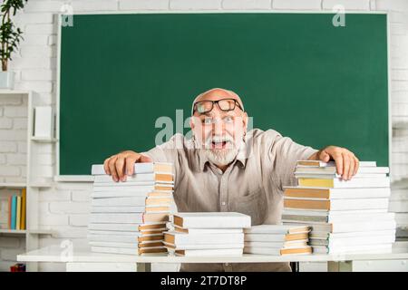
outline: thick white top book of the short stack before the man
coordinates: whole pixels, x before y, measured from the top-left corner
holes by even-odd
[[[179,212],[173,215],[173,222],[185,228],[251,227],[251,217],[238,212]]]

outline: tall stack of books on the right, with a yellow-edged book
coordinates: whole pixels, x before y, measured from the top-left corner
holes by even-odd
[[[394,214],[388,212],[389,169],[362,161],[350,180],[338,176],[334,162],[297,162],[297,187],[286,187],[282,221],[312,226],[314,253],[390,253]]]

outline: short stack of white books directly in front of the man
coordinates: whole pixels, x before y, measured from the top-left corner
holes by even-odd
[[[164,245],[176,256],[242,256],[251,218],[237,212],[189,212],[173,216]]]

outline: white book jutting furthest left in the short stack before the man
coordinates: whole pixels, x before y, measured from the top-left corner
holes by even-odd
[[[177,246],[206,244],[239,244],[244,234],[185,234],[175,231],[164,232],[164,241]]]

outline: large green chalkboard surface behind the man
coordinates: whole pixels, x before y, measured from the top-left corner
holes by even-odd
[[[386,14],[333,16],[74,15],[61,28],[59,174],[149,150],[160,116],[189,131],[193,98],[213,87],[237,92],[255,128],[388,165]]]

